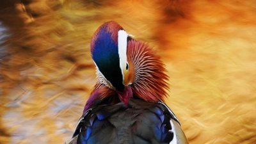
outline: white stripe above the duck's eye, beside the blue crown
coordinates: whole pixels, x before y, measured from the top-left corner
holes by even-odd
[[[130,36],[126,33],[125,30],[118,31],[118,54],[120,60],[120,68],[122,71],[123,81],[124,81],[124,72],[126,70],[126,62],[127,62],[127,37]]]

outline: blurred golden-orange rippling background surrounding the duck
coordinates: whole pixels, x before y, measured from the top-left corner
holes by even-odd
[[[256,143],[255,0],[0,2],[0,143],[63,143],[96,82],[90,39],[115,20],[166,64],[189,143]]]

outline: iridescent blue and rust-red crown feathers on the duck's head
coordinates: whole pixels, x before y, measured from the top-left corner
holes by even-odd
[[[123,30],[116,22],[102,24],[91,42],[92,58],[99,72],[111,87],[123,92],[124,84],[118,53],[118,31]]]

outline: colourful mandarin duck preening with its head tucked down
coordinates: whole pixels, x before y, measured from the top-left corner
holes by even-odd
[[[97,83],[70,143],[188,143],[163,102],[168,76],[152,48],[114,21],[95,31],[90,47]]]

